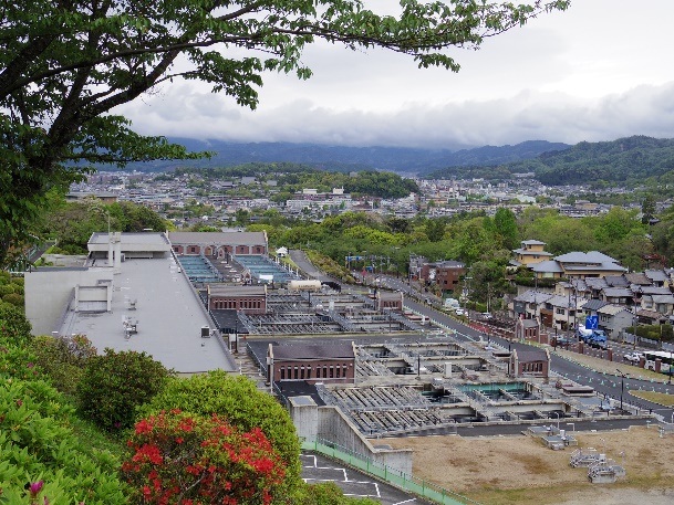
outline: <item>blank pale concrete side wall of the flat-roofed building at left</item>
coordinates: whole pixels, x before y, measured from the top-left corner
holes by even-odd
[[[75,286],[95,286],[100,280],[112,283],[112,269],[38,269],[25,272],[25,317],[33,335],[51,335]]]

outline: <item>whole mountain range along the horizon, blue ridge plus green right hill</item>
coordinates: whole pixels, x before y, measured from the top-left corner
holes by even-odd
[[[674,139],[632,136],[574,146],[529,140],[515,146],[473,149],[345,147],[317,144],[249,143],[169,138],[189,151],[210,151],[210,159],[153,161],[129,168],[163,171],[177,167],[217,168],[250,162],[290,162],[328,171],[382,170],[435,179],[506,180],[531,173],[542,183],[625,183],[655,178],[674,181]]]

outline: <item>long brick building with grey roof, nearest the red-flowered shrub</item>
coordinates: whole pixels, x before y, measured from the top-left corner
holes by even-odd
[[[355,345],[293,345],[269,344],[267,380],[274,382],[304,380],[310,383],[355,382]]]

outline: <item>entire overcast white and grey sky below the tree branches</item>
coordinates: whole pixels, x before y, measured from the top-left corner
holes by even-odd
[[[197,83],[118,112],[143,134],[232,141],[456,148],[673,138],[673,0],[573,0],[479,51],[453,51],[458,74],[317,44],[303,56],[313,77],[266,74],[255,112]]]

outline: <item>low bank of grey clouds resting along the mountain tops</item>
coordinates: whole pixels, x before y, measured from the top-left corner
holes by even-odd
[[[396,112],[335,111],[295,99],[256,112],[210,93],[177,87],[131,111],[146,134],[240,141],[292,141],[353,146],[457,147],[546,139],[578,143],[674,131],[674,82],[639,86],[600,99],[525,91],[509,98],[407,103]],[[167,107],[169,105],[169,107]],[[142,112],[142,114],[141,114]]]

